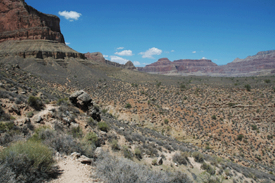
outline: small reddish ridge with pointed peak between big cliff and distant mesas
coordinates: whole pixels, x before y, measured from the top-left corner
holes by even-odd
[[[105,63],[105,64],[108,64],[108,65],[113,65],[114,67],[121,67],[121,68],[124,68],[124,69],[131,69],[131,70],[136,69],[136,67],[133,65],[133,63],[131,61],[128,61],[125,64],[120,64],[120,63],[115,63],[115,62],[112,62],[112,61],[108,61],[104,58],[104,56],[100,52],[94,52],[94,53],[89,53],[88,52],[88,53],[85,54],[85,56],[89,60],[97,61],[97,62],[100,62],[100,63]]]

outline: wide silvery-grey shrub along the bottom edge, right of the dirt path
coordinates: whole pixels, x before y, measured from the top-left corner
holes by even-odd
[[[152,171],[147,166],[137,164],[125,158],[115,158],[103,154],[96,162],[96,172],[106,182],[112,183],[184,183],[190,182],[181,172]]]

